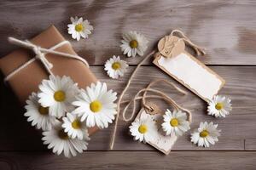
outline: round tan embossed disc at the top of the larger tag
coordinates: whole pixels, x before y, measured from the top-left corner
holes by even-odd
[[[181,54],[185,49],[183,39],[176,36],[166,36],[158,42],[158,50],[160,54],[166,58],[175,57]]]

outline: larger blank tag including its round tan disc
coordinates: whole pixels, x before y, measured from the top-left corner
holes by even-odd
[[[224,79],[184,48],[182,39],[164,37],[158,44],[159,53],[153,63],[201,99],[209,101],[224,86]]]

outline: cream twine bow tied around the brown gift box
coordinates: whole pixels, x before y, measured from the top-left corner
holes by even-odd
[[[20,47],[32,49],[32,51],[36,55],[34,58],[29,59],[25,64],[20,65],[20,67],[15,69],[15,71],[12,71],[11,73],[9,73],[9,75],[4,78],[4,82],[7,82],[11,77],[15,76],[16,73],[18,73],[22,69],[26,68],[27,65],[30,65],[36,59],[41,61],[41,63],[44,65],[44,68],[49,73],[49,75],[54,76],[53,72],[51,71],[51,69],[53,68],[53,65],[49,62],[48,59],[45,58],[46,54],[56,54],[56,55],[60,55],[60,56],[67,57],[67,58],[79,59],[81,62],[84,63],[84,65],[89,67],[87,61],[85,59],[83,59],[82,57],[80,57],[79,55],[73,55],[73,54],[67,54],[67,53],[55,51],[56,48],[60,48],[61,46],[65,45],[65,44],[70,44],[70,42],[68,42],[68,41],[63,41],[63,42],[57,43],[52,48],[48,49],[48,48],[41,48],[38,45],[35,45],[32,42],[29,42],[27,40],[21,41],[19,39],[16,39],[15,37],[9,37],[8,40],[10,43],[18,45]]]

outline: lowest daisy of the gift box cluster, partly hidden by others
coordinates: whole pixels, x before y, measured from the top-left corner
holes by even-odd
[[[57,155],[61,155],[63,152],[64,156],[71,157],[76,156],[77,152],[82,153],[83,150],[87,150],[87,141],[68,137],[68,134],[61,127],[61,122],[52,130],[43,132],[43,135],[44,144],[48,144],[48,149],[52,149]]]

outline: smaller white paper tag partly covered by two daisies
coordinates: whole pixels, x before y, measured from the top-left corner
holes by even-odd
[[[156,128],[154,129],[154,140],[148,141],[148,144],[152,145],[155,149],[160,150],[164,154],[168,155],[172,150],[172,145],[176,142],[177,136],[172,134],[171,136],[166,136],[164,132],[161,130],[162,123],[162,113],[156,113],[154,115],[148,114],[143,108],[137,115],[137,119],[142,118],[143,116],[147,116],[151,118],[156,123]]]

